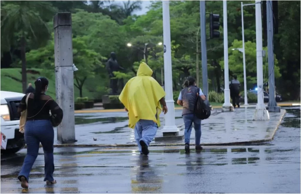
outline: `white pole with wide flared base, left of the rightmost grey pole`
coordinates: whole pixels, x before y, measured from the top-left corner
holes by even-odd
[[[257,66],[257,105],[253,120],[269,120],[270,116],[263,102],[263,66],[262,66],[262,21],[261,1],[255,1],[256,18],[256,66]]]

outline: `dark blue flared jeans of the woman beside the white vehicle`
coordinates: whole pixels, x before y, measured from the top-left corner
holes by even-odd
[[[25,143],[27,145],[27,154],[24,159],[18,179],[24,176],[29,180],[29,173],[33,167],[38,153],[40,142],[43,146],[44,160],[45,160],[45,178],[44,181],[53,181],[54,163],[53,163],[53,141],[54,131],[50,120],[34,120],[26,121]]]

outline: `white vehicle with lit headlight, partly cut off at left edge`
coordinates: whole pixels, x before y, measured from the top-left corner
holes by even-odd
[[[18,113],[18,106],[24,95],[8,91],[0,93],[1,132],[7,139],[6,149],[1,149],[2,154],[16,153],[25,146],[24,134],[19,132],[20,114]]]

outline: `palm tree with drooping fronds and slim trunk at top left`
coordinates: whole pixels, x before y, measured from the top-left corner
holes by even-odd
[[[15,34],[20,37],[18,45],[22,60],[22,88],[26,91],[26,44],[27,38],[36,45],[43,45],[50,36],[43,20],[54,15],[55,9],[43,1],[12,1],[1,6],[1,46],[9,50],[14,44]]]

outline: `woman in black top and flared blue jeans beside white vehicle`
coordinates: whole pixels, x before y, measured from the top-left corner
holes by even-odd
[[[38,156],[40,142],[43,146],[45,159],[44,181],[47,183],[56,183],[56,180],[53,178],[54,131],[52,124],[57,126],[61,123],[63,111],[50,96],[45,94],[48,89],[48,80],[46,78],[39,77],[36,80],[35,85],[36,92],[26,94],[18,107],[18,112],[27,109],[27,118],[24,128],[27,154],[18,176],[23,188],[28,188],[29,173]],[[51,111],[52,122],[50,121],[49,111]]]

